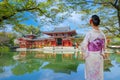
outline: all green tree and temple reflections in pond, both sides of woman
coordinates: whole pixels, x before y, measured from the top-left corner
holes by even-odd
[[[20,53],[24,56],[24,53]],[[109,54],[109,55],[108,55]],[[120,63],[120,55],[115,53],[108,53],[106,55],[107,59],[104,60],[104,71],[110,71],[110,68],[113,66],[111,61],[116,60],[117,63]],[[52,69],[55,72],[64,72],[70,73],[71,71],[76,71],[80,63],[84,63],[82,55],[79,52],[74,54],[56,54],[56,53],[43,53],[43,52],[28,52],[25,53],[25,59],[27,62],[18,63],[17,66],[12,69],[13,73],[16,75],[21,75],[25,73],[31,73],[33,71],[39,70],[39,67],[45,62],[49,62],[48,65],[43,68]],[[34,59],[34,60],[32,60]],[[43,61],[41,64],[38,64],[38,61]],[[21,71],[19,71],[21,70]]]

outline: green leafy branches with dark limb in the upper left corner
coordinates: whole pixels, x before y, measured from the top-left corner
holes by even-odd
[[[26,20],[24,12],[28,11],[38,15],[47,15],[46,8],[52,4],[50,0],[37,4],[36,0],[3,0],[0,2],[0,24],[18,24]]]

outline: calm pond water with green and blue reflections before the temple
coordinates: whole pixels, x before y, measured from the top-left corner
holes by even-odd
[[[120,54],[108,53],[104,64],[104,80],[120,80]],[[80,52],[0,54],[0,80],[84,80],[84,68]]]

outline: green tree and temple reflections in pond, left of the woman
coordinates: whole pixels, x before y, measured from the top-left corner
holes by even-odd
[[[55,72],[64,72],[70,73],[71,71],[76,71],[78,65],[80,63],[84,63],[84,60],[79,60],[76,58],[76,55],[79,53],[72,54],[55,54],[55,53],[40,53],[40,52],[22,52],[19,53],[20,56],[24,56],[25,58],[21,58],[18,60],[15,67],[12,69],[12,72],[15,75],[22,75],[25,73],[31,73],[33,71],[39,70],[40,66],[44,62],[49,62],[48,65],[43,68],[52,69]],[[80,55],[79,55],[80,57]],[[25,61],[23,61],[24,59]]]

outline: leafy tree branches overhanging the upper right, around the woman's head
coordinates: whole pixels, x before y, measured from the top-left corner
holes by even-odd
[[[120,37],[120,0],[67,0],[65,4],[70,4],[69,9],[84,14],[82,20],[85,21],[89,15],[99,14],[105,30]]]

